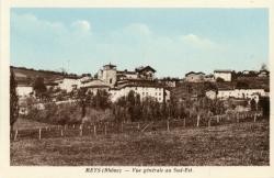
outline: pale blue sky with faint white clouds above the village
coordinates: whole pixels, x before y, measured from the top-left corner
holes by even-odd
[[[150,65],[157,77],[269,65],[267,9],[11,10],[11,65],[94,75]]]

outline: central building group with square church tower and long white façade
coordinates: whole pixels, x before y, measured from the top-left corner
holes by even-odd
[[[141,66],[134,71],[117,70],[115,65],[104,65],[98,73],[98,79],[93,79],[90,82],[98,80],[98,85],[83,86],[92,92],[96,90],[106,90],[111,94],[111,100],[116,101],[121,97],[125,97],[129,91],[134,91],[140,96],[144,100],[147,97],[153,98],[158,102],[169,101],[170,91],[165,89],[164,85],[155,81],[156,70],[150,66]]]

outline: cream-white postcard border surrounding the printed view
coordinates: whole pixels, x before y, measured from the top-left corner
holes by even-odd
[[[274,5],[271,0],[2,0],[1,1],[1,56],[0,56],[0,178],[76,178],[76,177],[216,177],[216,178],[259,178],[274,177],[273,166],[273,113],[271,112],[271,166],[263,167],[195,167],[193,166],[192,174],[87,174],[84,169],[87,166],[81,167],[16,167],[10,166],[10,141],[9,141],[9,64],[10,64],[10,8],[267,8],[270,19],[270,68],[273,67],[273,10]],[[271,70],[272,71],[272,70]],[[273,74],[271,73],[271,91],[273,91]],[[271,92],[271,98],[272,98]],[[271,100],[272,104],[272,100]],[[271,105],[271,111],[274,111],[274,105]],[[4,145],[4,146],[3,146]],[[124,167],[125,168],[125,167]],[[128,168],[128,167],[127,167]]]

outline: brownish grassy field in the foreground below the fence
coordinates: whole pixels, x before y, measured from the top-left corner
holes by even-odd
[[[11,143],[11,165],[269,165],[269,122],[136,134],[24,140]]]

